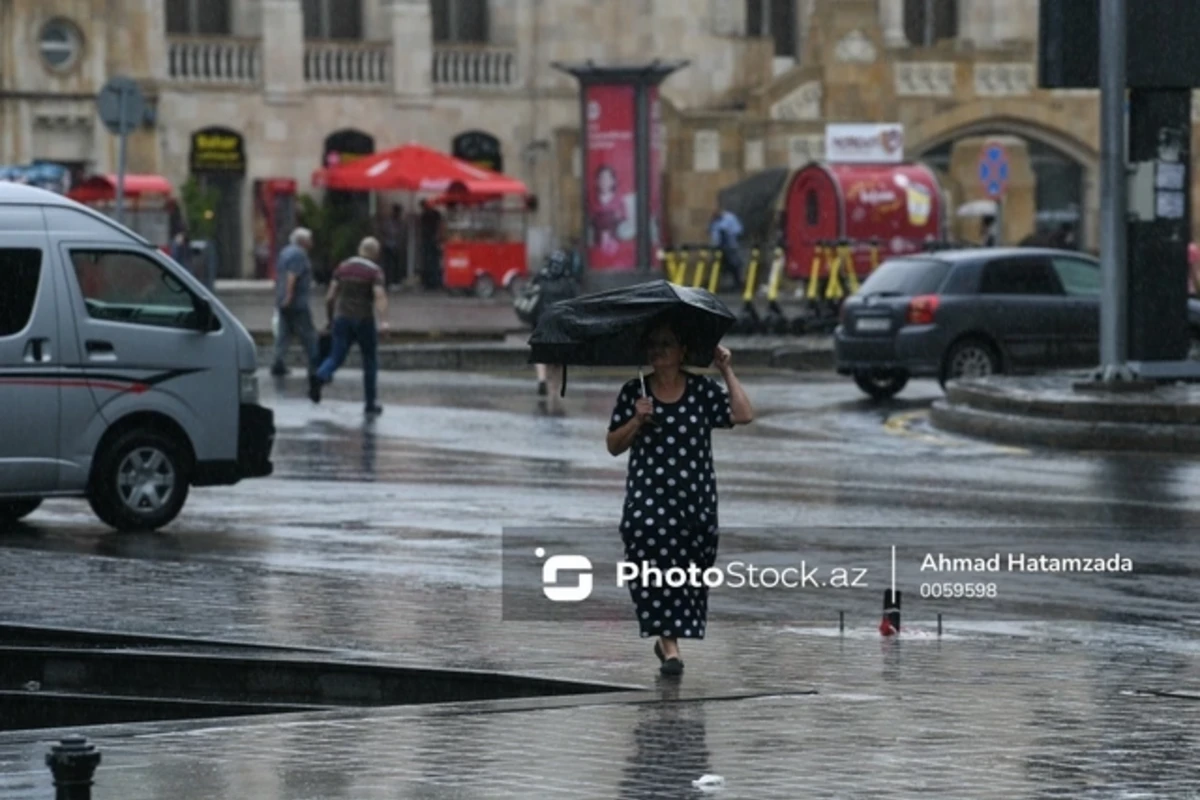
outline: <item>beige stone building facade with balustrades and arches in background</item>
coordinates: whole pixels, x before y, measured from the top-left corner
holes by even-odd
[[[113,172],[94,103],[113,74],[155,109],[133,172],[180,186],[198,132],[240,137],[227,276],[256,271],[256,181],[319,194],[346,142],[491,133],[540,197],[532,255],[577,235],[578,90],[552,65],[588,59],[690,62],[662,86],[670,241],[703,237],[725,186],[820,160],[830,122],[902,124],[952,205],[982,193],[982,137],[1007,137],[1006,239],[1078,217],[1096,241],[1098,100],[1037,89],[1037,0],[0,0],[0,163]]]

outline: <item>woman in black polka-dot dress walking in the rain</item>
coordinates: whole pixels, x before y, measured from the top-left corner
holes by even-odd
[[[712,432],[754,420],[745,390],[733,374],[728,349],[718,347],[714,366],[728,387],[683,369],[688,357],[679,327],[650,330],[646,353],[654,372],[622,387],[608,425],[608,452],[631,450],[625,479],[620,536],[625,560],[656,567],[701,571],[716,560],[716,476]],[[644,585],[643,585],[644,583]],[[659,637],[654,654],[665,675],[683,672],[678,639],[702,639],[708,622],[708,589],[666,582],[631,582],[630,595],[642,638]]]

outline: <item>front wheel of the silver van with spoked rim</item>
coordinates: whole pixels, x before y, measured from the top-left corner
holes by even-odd
[[[100,453],[88,503],[116,530],[157,530],[182,510],[191,473],[188,456],[173,437],[152,428],[130,431]]]

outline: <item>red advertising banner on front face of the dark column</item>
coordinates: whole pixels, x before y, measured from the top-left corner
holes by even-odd
[[[586,89],[588,140],[588,269],[626,271],[637,266],[636,108],[631,85]]]

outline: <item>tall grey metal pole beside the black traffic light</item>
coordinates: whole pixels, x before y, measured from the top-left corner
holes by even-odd
[[[1100,374],[1124,372],[1128,347],[1126,0],[1100,0]]]

